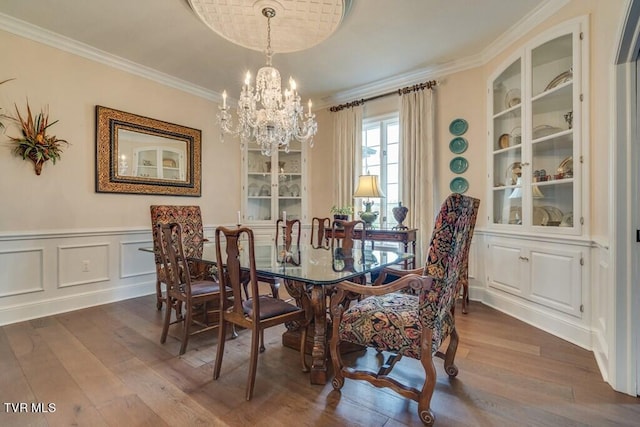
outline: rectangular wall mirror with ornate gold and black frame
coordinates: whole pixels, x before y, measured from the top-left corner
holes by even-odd
[[[96,191],[200,196],[197,129],[96,107]]]

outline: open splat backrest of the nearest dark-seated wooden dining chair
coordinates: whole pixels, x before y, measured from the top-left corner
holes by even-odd
[[[224,239],[223,239],[224,236]],[[246,245],[240,245],[240,240],[246,236]],[[224,240],[224,243],[223,243]],[[243,242],[244,243],[244,242]],[[224,245],[224,248],[223,248]],[[242,247],[242,249],[241,249]],[[244,309],[242,307],[242,281],[246,273],[243,274],[240,264],[240,251],[247,251],[249,259],[249,289],[250,293],[247,295],[255,296],[253,300],[254,320],[257,322],[257,318],[260,313],[260,298],[258,290],[258,277],[256,274],[256,259],[255,259],[255,244],[253,238],[253,231],[248,227],[239,228],[216,228],[216,261],[218,264],[218,277],[220,279],[220,289],[231,289],[233,298],[225,297],[224,309],[227,309],[229,305],[232,305],[232,311],[236,316],[244,316]],[[222,273],[222,271],[224,274]],[[228,294],[227,294],[228,295]]]

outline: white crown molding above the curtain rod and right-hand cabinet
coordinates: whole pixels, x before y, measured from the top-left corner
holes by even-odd
[[[381,95],[405,86],[411,86],[434,78],[437,79],[437,76],[453,74],[485,65],[508,48],[509,45],[522,37],[522,35],[542,24],[570,1],[571,0],[545,0],[541,2],[531,13],[513,24],[477,55],[400,74],[388,79],[378,80],[373,83],[338,92],[323,98],[322,105],[318,105],[318,108],[329,107],[333,104],[348,102],[354,99]],[[440,80],[440,82],[442,83],[442,80]]]

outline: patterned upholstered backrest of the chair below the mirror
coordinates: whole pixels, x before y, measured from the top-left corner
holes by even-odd
[[[187,257],[202,256],[204,230],[200,206],[152,205],[151,227],[155,230],[158,224],[178,223],[182,228],[182,246]],[[156,264],[160,263],[156,233],[153,233],[153,249]]]

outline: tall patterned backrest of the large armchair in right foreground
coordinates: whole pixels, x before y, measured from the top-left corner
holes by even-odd
[[[428,292],[420,293],[423,320],[430,327],[453,307],[479,206],[480,200],[454,193],[440,208],[425,265],[425,274],[435,280]]]

